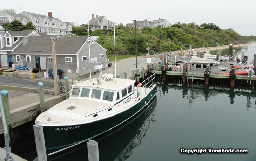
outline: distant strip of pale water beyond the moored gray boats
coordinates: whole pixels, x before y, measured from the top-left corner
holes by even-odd
[[[221,50],[222,50],[221,55],[229,54],[229,47]],[[248,60],[253,60],[253,55],[256,54],[256,43],[253,43],[251,45],[241,46],[241,47],[235,47],[232,50],[235,50],[235,55],[238,55],[239,58],[241,58],[242,50],[244,50],[244,55],[248,56]],[[220,53],[220,50],[213,50],[213,51],[210,51],[210,53],[216,55],[216,53]],[[233,54],[233,51],[232,51],[232,54]]]

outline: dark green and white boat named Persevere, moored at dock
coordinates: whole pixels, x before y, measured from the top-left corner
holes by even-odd
[[[148,107],[156,95],[155,75],[134,85],[130,79],[102,80],[102,65],[94,69],[99,78],[72,85],[67,100],[36,118],[47,154],[112,130]]]

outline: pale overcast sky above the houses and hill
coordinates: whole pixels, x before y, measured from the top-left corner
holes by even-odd
[[[158,18],[173,23],[214,23],[221,29],[234,29],[238,34],[256,35],[255,0],[3,0],[0,10],[14,8],[52,16],[63,22],[86,24],[92,13],[109,21],[131,23],[131,20],[153,21]]]

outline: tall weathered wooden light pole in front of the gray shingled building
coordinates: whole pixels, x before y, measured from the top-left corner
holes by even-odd
[[[57,82],[57,65],[56,65],[56,50],[55,50],[55,37],[51,37],[52,40],[52,56],[53,56],[53,79],[54,79],[54,94],[58,94],[58,82]]]

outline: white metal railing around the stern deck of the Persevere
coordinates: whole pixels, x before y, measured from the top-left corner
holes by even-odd
[[[135,100],[142,99],[142,97],[145,97],[148,92],[150,92],[150,89],[155,85],[155,74],[151,75],[147,79],[145,79],[143,82],[141,82],[141,86],[136,85],[133,87],[133,96]]]

